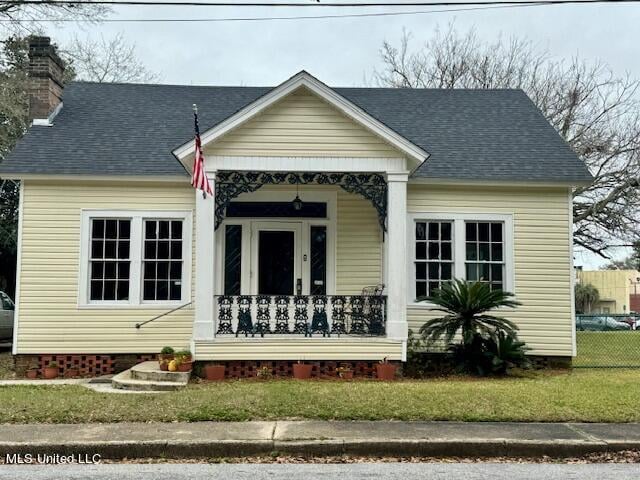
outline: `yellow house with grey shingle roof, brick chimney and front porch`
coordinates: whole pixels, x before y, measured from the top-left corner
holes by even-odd
[[[531,353],[575,354],[572,187],[591,177],[520,90],[71,83],[30,49],[13,353],[108,372],[406,358],[416,299],[489,282]],[[213,196],[190,186],[199,108]],[[334,362],[334,363],[331,363]],[[90,365],[89,365],[90,364]],[[329,368],[329,367],[326,367]]]

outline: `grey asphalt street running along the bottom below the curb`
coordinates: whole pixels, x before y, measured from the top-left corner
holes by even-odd
[[[1,480],[636,480],[635,464],[357,463],[2,465]]]

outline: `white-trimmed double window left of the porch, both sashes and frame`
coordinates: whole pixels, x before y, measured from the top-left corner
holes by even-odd
[[[79,304],[180,304],[191,296],[191,212],[82,212]]]

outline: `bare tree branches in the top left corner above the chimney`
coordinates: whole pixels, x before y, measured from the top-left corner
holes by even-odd
[[[14,35],[27,35],[42,30],[42,20],[78,20],[96,22],[110,9],[91,0],[74,4],[25,3],[21,0],[0,2],[2,29]]]

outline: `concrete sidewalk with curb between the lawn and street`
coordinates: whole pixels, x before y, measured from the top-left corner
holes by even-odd
[[[103,458],[580,456],[640,449],[640,424],[465,422],[199,422],[0,425],[0,456]]]

